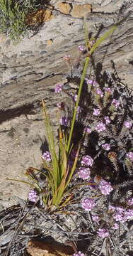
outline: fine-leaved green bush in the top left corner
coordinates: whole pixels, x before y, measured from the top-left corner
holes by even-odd
[[[30,10],[35,11],[35,0],[1,0],[0,1],[0,33],[6,33],[13,41],[20,41],[25,36],[28,25],[25,16]]]

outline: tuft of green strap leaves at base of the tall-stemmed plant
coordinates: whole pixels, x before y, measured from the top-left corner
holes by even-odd
[[[52,156],[51,165],[48,166],[47,161],[43,160],[44,167],[47,169],[45,176],[47,176],[48,181],[48,196],[44,195],[43,200],[48,206],[65,206],[69,201],[71,201],[72,194],[69,192],[68,186],[71,178],[76,169],[76,162],[79,156],[79,147],[76,151],[76,158],[74,159],[73,166],[69,166],[69,154],[71,149],[68,149],[67,136],[65,137],[64,132],[59,128],[59,152],[55,150],[54,135],[52,132],[52,127],[50,125],[50,120],[47,116],[45,110],[45,103],[42,102],[44,117],[45,117],[45,127],[47,134],[47,142],[50,148],[50,154]]]

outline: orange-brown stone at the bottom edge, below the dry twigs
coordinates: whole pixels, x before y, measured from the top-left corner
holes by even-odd
[[[69,245],[38,240],[30,240],[26,250],[30,256],[69,256],[74,254]]]

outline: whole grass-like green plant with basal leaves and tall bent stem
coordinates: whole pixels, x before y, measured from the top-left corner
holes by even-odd
[[[76,156],[72,163],[69,163],[69,158],[71,150],[73,149],[72,135],[74,131],[74,124],[76,121],[76,114],[79,105],[79,100],[81,97],[81,90],[83,86],[83,81],[86,77],[86,72],[88,68],[88,63],[93,52],[100,46],[105,38],[112,35],[119,23],[112,26],[103,36],[101,36],[96,43],[88,51],[86,57],[86,62],[84,64],[83,73],[81,75],[81,82],[79,85],[78,97],[76,100],[76,105],[74,108],[73,117],[71,119],[70,129],[67,134],[65,134],[62,126],[59,127],[59,141],[56,144],[54,140],[54,133],[52,131],[52,126],[50,124],[50,119],[48,117],[45,102],[42,100],[42,109],[45,119],[45,129],[47,143],[50,150],[51,161],[46,161],[43,159],[43,165],[45,171],[40,171],[35,168],[30,168],[26,171],[26,176],[30,178],[30,182],[21,181],[23,183],[28,183],[34,187],[38,193],[42,194],[42,202],[45,204],[48,210],[62,210],[65,206],[73,203],[76,198],[74,198],[74,186],[71,186],[71,178],[76,170],[76,164],[79,159],[79,151],[81,147],[81,142],[79,142],[76,149]],[[87,42],[87,41],[86,41]],[[86,43],[87,45],[87,43]],[[56,151],[56,146],[58,146],[58,151]],[[41,187],[39,181],[37,181],[37,176],[35,172],[45,176],[45,186]],[[10,179],[11,180],[11,179]],[[15,181],[14,179],[12,179]]]

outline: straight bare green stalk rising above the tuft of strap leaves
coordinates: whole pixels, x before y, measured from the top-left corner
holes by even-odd
[[[86,62],[85,62],[84,68],[83,68],[83,73],[81,75],[81,82],[80,82],[80,85],[79,85],[78,97],[77,97],[77,100],[76,100],[76,106],[74,108],[74,115],[73,115],[72,122],[71,122],[69,141],[68,141],[68,144],[67,144],[67,153],[69,152],[71,137],[72,137],[72,133],[73,133],[73,130],[74,130],[74,123],[75,123],[75,119],[76,119],[76,112],[77,112],[77,108],[78,108],[78,105],[79,105],[79,99],[80,99],[80,96],[81,96],[81,90],[82,90],[84,78],[86,76],[86,71],[87,71],[87,68],[88,68],[89,59],[90,59],[89,57],[86,57]]]

